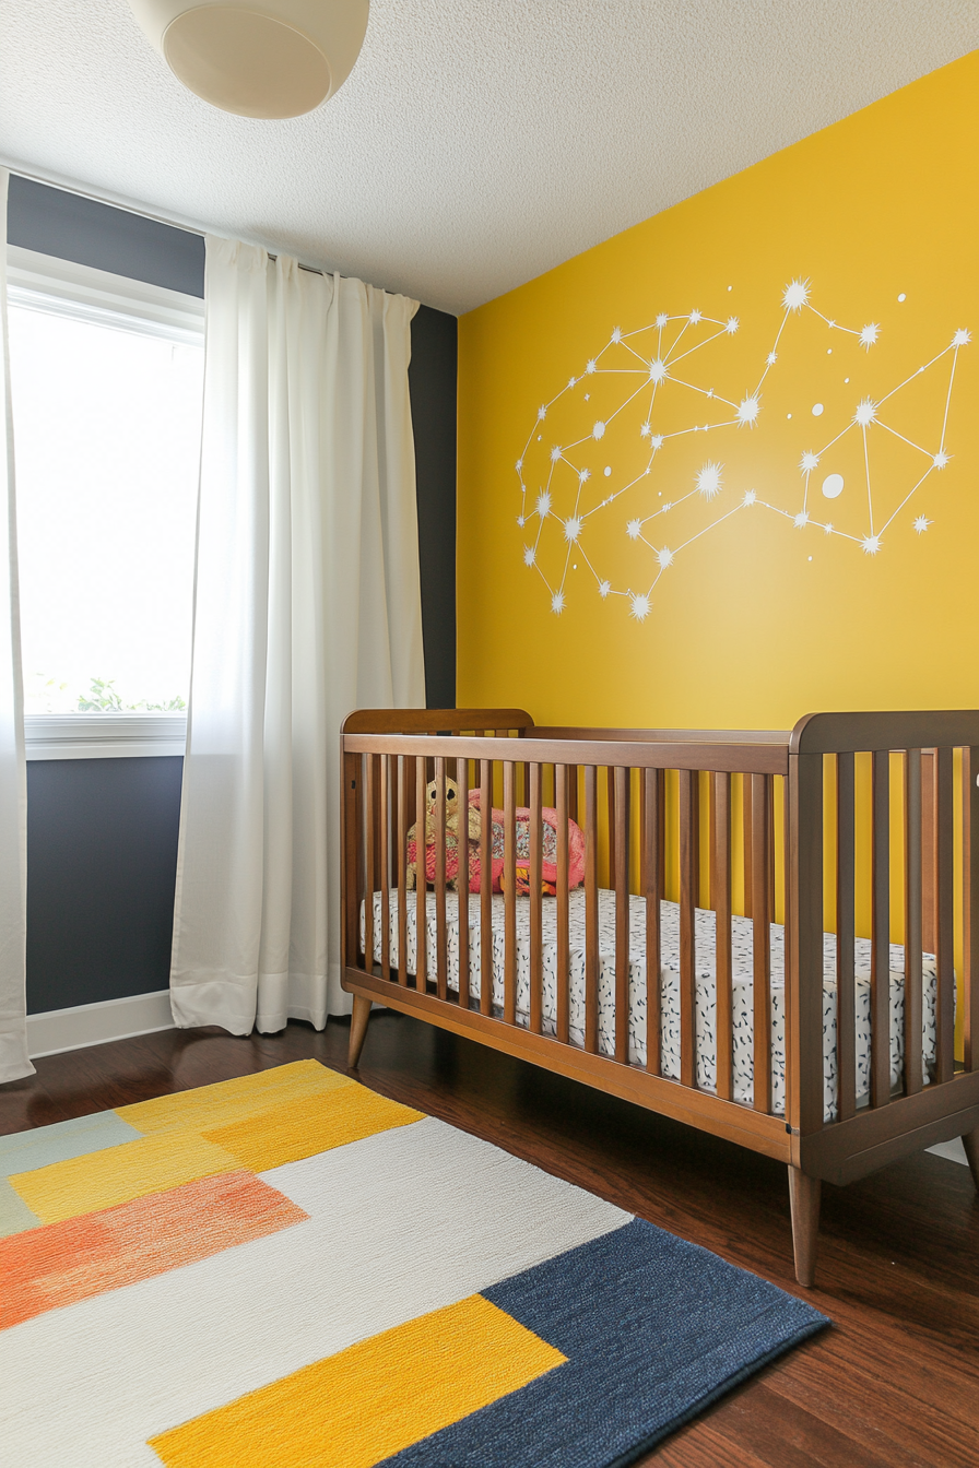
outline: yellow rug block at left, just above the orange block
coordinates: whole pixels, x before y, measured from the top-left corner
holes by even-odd
[[[241,1171],[238,1158],[214,1142],[195,1132],[164,1132],[31,1173],[15,1173],[10,1185],[41,1223],[62,1223],[97,1208],[181,1188],[197,1177],[236,1171]]]

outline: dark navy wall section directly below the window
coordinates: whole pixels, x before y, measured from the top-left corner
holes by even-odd
[[[28,1014],[170,982],[182,768],[28,763]]]

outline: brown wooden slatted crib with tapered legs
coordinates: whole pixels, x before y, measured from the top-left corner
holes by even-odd
[[[478,788],[502,807],[503,897],[446,882],[446,777],[459,806]],[[408,890],[408,831],[436,782],[434,884]],[[961,1136],[979,1185],[979,712],[816,713],[791,734],[537,728],[520,709],[361,711],[342,733],[343,988],[354,995],[355,1066],[371,1001],[571,1076],[788,1167],[796,1274],[813,1283],[820,1182],[851,1182],[919,1148]],[[496,796],[496,799],[495,799]],[[517,894],[517,807],[528,807],[528,895]],[[555,897],[542,897],[545,804],[556,809]],[[568,893],[568,819],[584,831],[583,895]],[[458,822],[459,872],[468,871]],[[490,868],[490,822],[478,837]],[[678,901],[678,1066],[663,1075],[665,989],[646,985],[644,1063],[630,1058],[630,910],[644,912],[644,973],[660,973],[663,910]],[[599,900],[615,894],[611,976],[599,948]],[[377,894],[377,897],[374,895]],[[895,897],[897,894],[897,897]],[[569,1026],[571,901],[584,907],[584,1022]],[[502,995],[483,935],[502,907]],[[528,932],[528,1004],[518,1013],[518,906]],[[556,1004],[543,1004],[543,922]],[[430,907],[434,918],[430,919]],[[903,1055],[891,1055],[891,907],[904,940]],[[697,1080],[697,909],[716,915],[715,1082]],[[903,909],[903,916],[901,916]],[[740,910],[740,916],[735,912]],[[854,970],[859,913],[869,916],[867,1095],[857,1088]],[[732,1075],[732,928],[750,919],[751,1095]],[[784,922],[784,1053],[774,1105],[771,922]],[[434,942],[430,941],[430,920]],[[866,920],[866,918],[865,918]],[[452,978],[451,925],[456,923]],[[415,959],[410,963],[410,928]],[[835,1102],[823,1092],[823,931],[835,932]],[[430,951],[432,950],[432,951]],[[956,972],[958,953],[958,973]],[[525,953],[525,950],[524,950]],[[926,1063],[922,954],[933,954]],[[556,973],[555,973],[556,967]],[[424,975],[418,979],[411,969]],[[928,964],[929,975],[932,964]],[[599,982],[614,989],[614,1042],[600,1044]],[[958,1000],[956,982],[958,979]],[[779,978],[779,985],[781,985]],[[478,991],[478,998],[476,992]],[[498,1000],[502,998],[502,1003]],[[778,995],[776,995],[778,1001]],[[956,1060],[956,1003],[963,1061]],[[898,1009],[895,1007],[895,1014]],[[547,1031],[552,1031],[550,1033]],[[611,1053],[602,1053],[606,1050]]]

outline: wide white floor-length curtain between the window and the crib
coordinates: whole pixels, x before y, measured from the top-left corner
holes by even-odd
[[[339,728],[424,706],[417,302],[207,239],[178,1025],[323,1028],[339,985]]]

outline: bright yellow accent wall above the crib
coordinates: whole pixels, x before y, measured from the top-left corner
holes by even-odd
[[[785,728],[815,709],[979,702],[979,341],[945,351],[957,330],[979,332],[978,98],[973,53],[462,317],[461,706],[525,706],[539,722]],[[798,311],[782,304],[793,280],[809,282]],[[737,317],[737,330],[693,311]],[[658,313],[671,317],[662,339]],[[867,324],[869,348],[853,335]],[[628,346],[612,342],[616,327]],[[776,338],[756,424],[684,432],[737,415]],[[658,354],[669,379],[650,413]],[[609,370],[587,373],[590,358]],[[953,358],[951,458],[935,468]],[[878,408],[865,461],[857,405],[909,377]],[[666,435],[652,462],[647,415]],[[797,527],[800,457],[840,433]],[[697,490],[707,464],[721,465],[713,498]],[[592,477],[578,509],[594,512],[562,581],[581,468]],[[844,477],[832,501],[831,473]],[[549,476],[559,518],[542,527],[533,511]],[[869,499],[875,531],[889,521],[875,555],[862,545]],[[628,537],[634,518],[647,543]],[[537,567],[524,564],[528,546]],[[663,548],[677,553],[656,580]],[[650,586],[638,621],[615,593]]]

